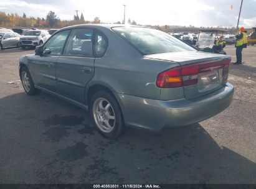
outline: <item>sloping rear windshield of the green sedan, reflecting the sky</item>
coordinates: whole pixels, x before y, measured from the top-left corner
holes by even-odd
[[[143,55],[195,50],[181,40],[156,29],[144,27],[113,27],[112,29],[133,44]]]

